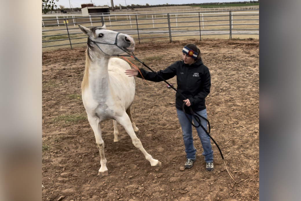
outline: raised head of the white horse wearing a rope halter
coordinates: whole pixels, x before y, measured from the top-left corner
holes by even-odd
[[[88,36],[87,45],[91,51],[96,51],[103,56],[113,56],[135,50],[132,36],[107,30],[105,25],[92,28],[78,26]]]

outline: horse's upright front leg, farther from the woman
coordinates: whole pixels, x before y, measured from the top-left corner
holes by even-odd
[[[98,176],[106,176],[108,175],[107,169],[107,159],[104,155],[104,141],[101,138],[101,127],[100,127],[100,119],[97,117],[91,117],[88,115],[88,121],[94,131],[96,147],[99,150],[100,154],[100,169],[98,170]]]

